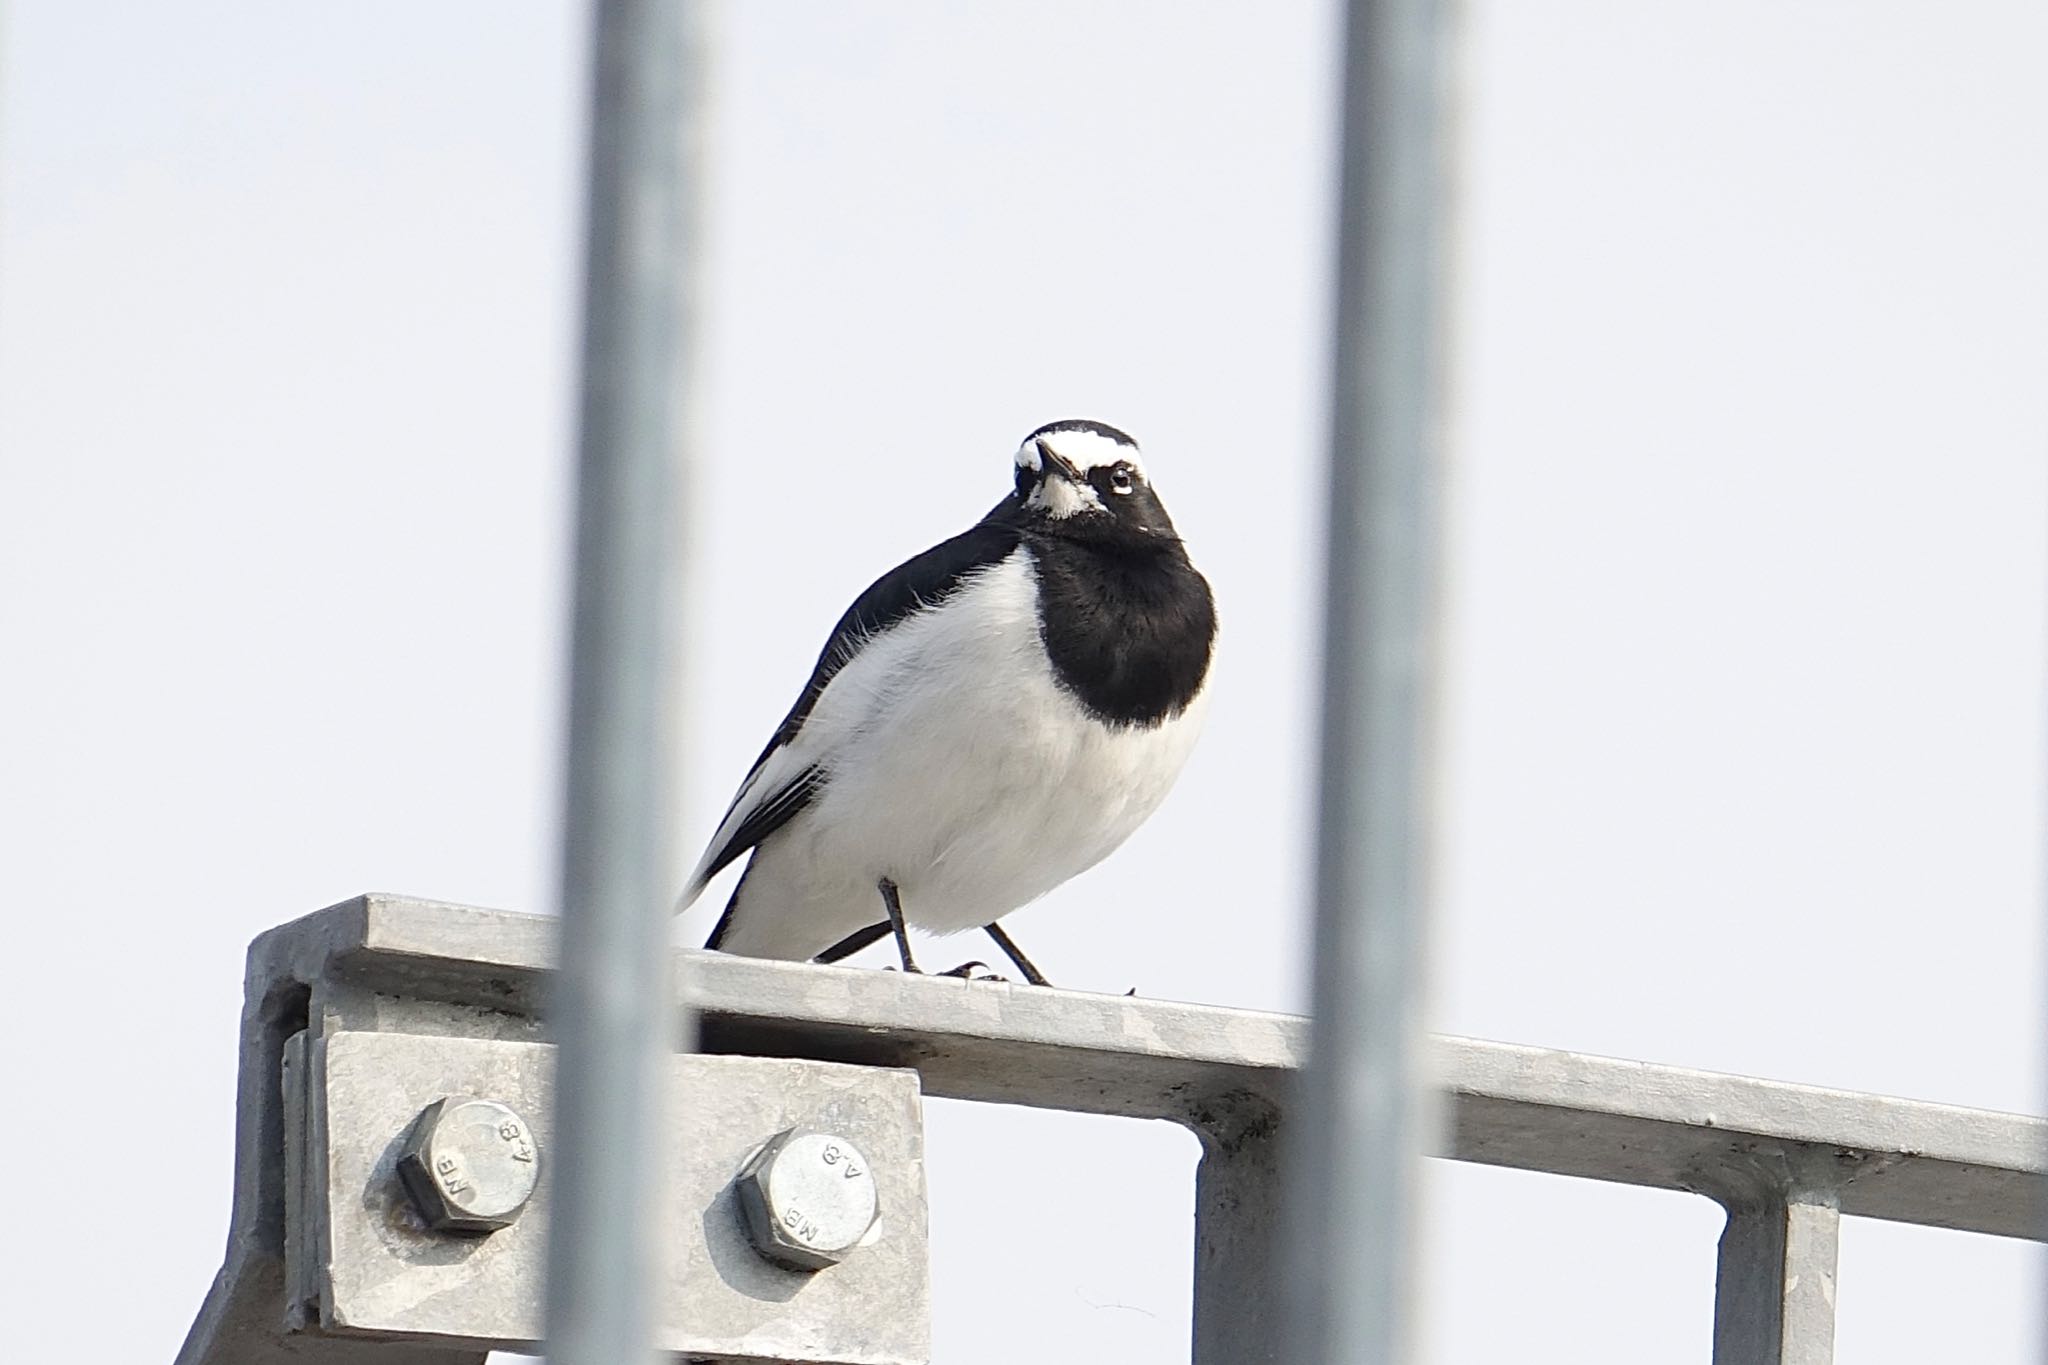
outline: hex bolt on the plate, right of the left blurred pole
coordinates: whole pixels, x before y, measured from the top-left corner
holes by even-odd
[[[838,1134],[788,1128],[733,1177],[754,1248],[793,1271],[846,1261],[881,1205],[868,1158]]]

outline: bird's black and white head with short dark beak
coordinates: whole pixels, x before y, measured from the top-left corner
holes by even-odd
[[[1139,442],[1114,426],[1049,422],[1018,446],[1016,497],[1047,530],[1174,542],[1174,520],[1145,477]]]

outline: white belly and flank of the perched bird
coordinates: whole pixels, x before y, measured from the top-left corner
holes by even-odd
[[[1008,686],[969,681],[989,677]],[[721,948],[817,956],[883,921],[881,878],[922,929],[991,923],[1145,823],[1204,704],[1153,729],[1090,716],[1044,661],[1020,551],[834,675],[805,724],[823,741],[825,788],[754,853]]]

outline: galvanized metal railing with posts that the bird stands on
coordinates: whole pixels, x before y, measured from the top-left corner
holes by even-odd
[[[340,1134],[322,1134],[330,1162],[350,1156],[377,1175],[334,1189],[326,1212],[307,1207],[303,1152],[324,1148],[309,1144],[307,1105],[293,1113],[291,1087],[279,1076],[291,1074],[295,1052],[317,1056],[362,1033],[440,1040],[442,1050],[530,1050],[547,1038],[541,1001],[553,952],[555,925],[545,917],[393,896],[350,900],[256,939],[227,1263],[180,1365],[479,1365],[487,1349],[532,1345],[539,1277],[500,1277],[492,1283],[502,1297],[487,1300],[483,1283],[494,1269],[481,1250],[451,1248],[446,1238],[401,1226],[395,1205],[377,1195],[391,1183],[397,1132],[356,1126],[352,1156],[340,1150]],[[877,1072],[887,1076],[911,1068],[928,1095],[1184,1124],[1202,1142],[1194,1361],[1290,1359],[1278,1209],[1307,1021],[1004,982],[680,956],[690,970],[672,1007],[678,1019],[696,1011],[709,1054],[891,1068]],[[418,1052],[432,1058],[436,1046]],[[1716,1365],[1831,1359],[1843,1216],[2032,1240],[2048,1230],[2048,1119],[1460,1038],[1432,1040],[1427,1062],[1446,1117],[1442,1156],[1692,1191],[1729,1209]],[[444,1085],[395,1068],[379,1074],[389,1091],[403,1093],[408,1083],[414,1103]],[[551,1134],[539,1132],[539,1140],[545,1146]],[[915,1179],[922,1185],[922,1171]],[[922,1230],[922,1207],[915,1218]],[[465,1328],[459,1338],[436,1338],[334,1320],[322,1295],[332,1297],[336,1275],[356,1273],[336,1263],[334,1248],[344,1246],[338,1220],[383,1257],[381,1273],[399,1287],[387,1297],[498,1304],[500,1316],[483,1320],[502,1322],[502,1334]],[[408,1285],[408,1277],[432,1279]],[[674,1312],[674,1302],[668,1308]],[[872,1304],[856,1304],[838,1328],[858,1340],[872,1318]],[[903,1347],[854,1359],[922,1357]]]

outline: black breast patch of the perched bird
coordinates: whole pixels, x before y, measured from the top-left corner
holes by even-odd
[[[1217,606],[1180,542],[1130,551],[1026,536],[1053,675],[1108,724],[1178,716],[1208,675]]]

